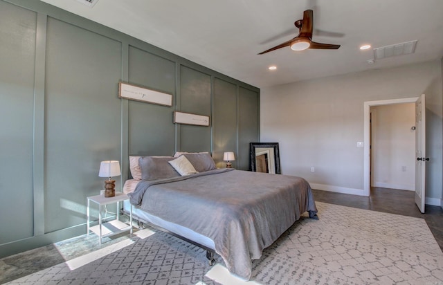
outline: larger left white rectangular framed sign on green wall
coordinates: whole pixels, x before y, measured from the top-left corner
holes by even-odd
[[[172,95],[147,89],[145,87],[118,82],[118,98],[158,104],[162,106],[172,106]]]

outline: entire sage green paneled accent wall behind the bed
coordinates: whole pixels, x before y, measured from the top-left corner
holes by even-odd
[[[211,151],[248,169],[260,89],[39,1],[0,1],[0,257],[86,233],[101,160]],[[118,82],[173,96],[118,98]],[[175,125],[173,111],[210,116]],[[96,214],[96,211],[93,212]]]

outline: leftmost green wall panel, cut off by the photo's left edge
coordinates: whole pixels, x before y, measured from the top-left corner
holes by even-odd
[[[0,244],[33,236],[36,21],[35,12],[0,2],[0,39],[7,39],[0,40]]]

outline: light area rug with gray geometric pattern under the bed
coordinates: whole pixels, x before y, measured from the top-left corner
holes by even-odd
[[[443,284],[443,253],[424,219],[317,207],[320,220],[302,217],[253,261],[251,282],[230,275],[218,255],[209,266],[204,250],[145,229],[146,237],[115,251],[102,248],[8,284]]]

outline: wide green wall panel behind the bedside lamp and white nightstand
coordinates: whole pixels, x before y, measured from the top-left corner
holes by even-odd
[[[121,43],[51,17],[47,26],[45,232],[53,232],[84,223],[86,197],[103,189],[100,160],[120,160]]]

